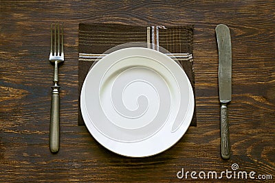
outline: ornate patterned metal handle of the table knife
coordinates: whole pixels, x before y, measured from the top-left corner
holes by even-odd
[[[225,160],[230,158],[228,107],[226,103],[221,103],[221,158]]]

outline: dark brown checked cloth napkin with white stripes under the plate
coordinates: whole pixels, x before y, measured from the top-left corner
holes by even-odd
[[[183,67],[195,94],[195,73],[193,70],[192,42],[193,27],[187,26],[131,26],[118,24],[79,24],[78,34],[78,125],[84,121],[80,112],[80,92],[92,64],[102,58],[107,50],[129,42],[144,42],[159,51],[166,49]],[[192,126],[197,126],[196,109]]]

